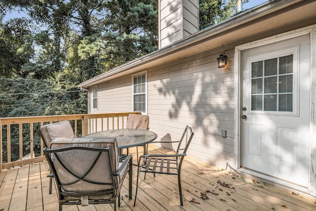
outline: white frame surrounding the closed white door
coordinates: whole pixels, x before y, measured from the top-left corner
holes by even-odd
[[[250,48],[271,44],[290,38],[299,37],[302,35],[310,35],[310,140],[309,140],[309,181],[308,190],[301,188],[289,182],[285,182],[280,179],[276,179],[260,172],[255,172],[247,169],[240,168],[240,115],[241,115],[241,51]],[[314,59],[313,59],[314,58]],[[316,196],[316,172],[313,173],[313,169],[316,169],[316,25],[311,25],[294,31],[286,32],[280,35],[272,36],[262,40],[245,43],[235,47],[235,137],[234,137],[234,154],[235,154],[235,169],[238,171],[248,173],[254,176],[258,176],[265,180],[271,181],[276,184],[281,184],[293,189],[297,189],[313,196]]]

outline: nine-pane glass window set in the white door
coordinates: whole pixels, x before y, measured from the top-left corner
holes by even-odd
[[[293,111],[293,55],[251,63],[251,110]]]

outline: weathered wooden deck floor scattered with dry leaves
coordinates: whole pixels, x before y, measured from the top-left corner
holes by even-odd
[[[151,145],[151,154],[163,153]],[[165,150],[164,150],[165,151]],[[134,156],[136,159],[136,156]],[[135,160],[134,159],[134,160]],[[135,160],[136,162],[136,160]],[[133,194],[136,171],[133,169]],[[0,174],[0,211],[55,211],[57,194],[48,194],[47,162],[3,170]],[[136,206],[128,200],[128,178],[121,190],[121,211],[315,211],[316,199],[293,190],[242,176],[229,169],[186,157],[182,169],[184,205],[178,198],[177,178],[174,175],[141,175]],[[202,199],[204,198],[204,199]],[[134,199],[134,195],[133,195]],[[64,211],[113,210],[111,205],[63,206]]]

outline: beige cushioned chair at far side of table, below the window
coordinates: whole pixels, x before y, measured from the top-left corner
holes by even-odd
[[[126,129],[149,129],[149,116],[141,114],[129,114],[127,117]],[[143,145],[144,153],[146,151],[146,145]],[[127,155],[128,153],[128,148]],[[136,147],[137,159],[138,159],[138,146]]]

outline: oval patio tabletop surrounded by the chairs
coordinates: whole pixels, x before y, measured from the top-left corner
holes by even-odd
[[[150,143],[157,138],[157,134],[145,129],[114,129],[91,133],[84,137],[116,138],[118,148],[128,148]]]

